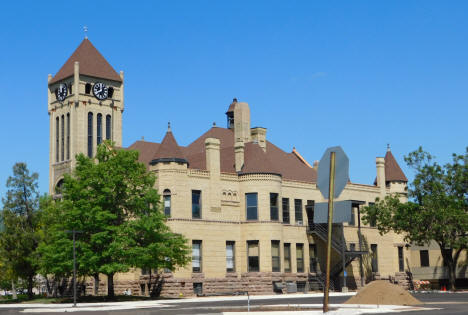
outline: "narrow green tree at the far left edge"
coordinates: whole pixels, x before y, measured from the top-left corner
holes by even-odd
[[[35,250],[38,245],[40,219],[38,174],[30,174],[25,163],[13,166],[8,177],[6,198],[2,198],[3,231],[0,233],[0,251],[4,268],[14,285],[17,278],[27,282],[28,296],[32,298],[36,275]]]

